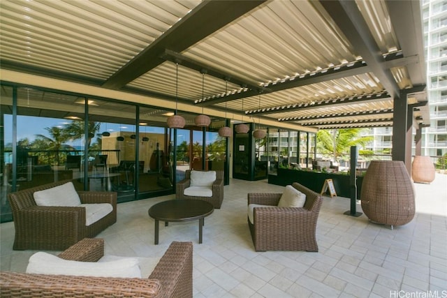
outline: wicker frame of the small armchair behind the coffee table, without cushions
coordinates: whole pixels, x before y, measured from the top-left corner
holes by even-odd
[[[191,170],[186,170],[182,181],[177,182],[177,199],[203,200],[210,202],[214,208],[220,209],[223,201],[223,171],[216,171],[216,181],[212,184],[212,197],[195,197],[184,195],[184,189],[191,185]]]

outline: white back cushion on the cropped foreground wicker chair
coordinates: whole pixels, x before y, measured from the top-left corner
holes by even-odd
[[[27,273],[141,278],[136,258],[121,258],[108,262],[78,262],[64,260],[44,252],[31,255]]]

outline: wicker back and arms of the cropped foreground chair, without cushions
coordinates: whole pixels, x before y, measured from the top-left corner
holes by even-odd
[[[83,239],[59,255],[96,262],[103,239]],[[0,297],[192,297],[193,245],[173,242],[149,278],[108,278],[0,272]]]

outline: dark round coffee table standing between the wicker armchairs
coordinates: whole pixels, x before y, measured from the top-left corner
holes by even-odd
[[[210,202],[203,200],[168,200],[154,204],[148,214],[155,220],[155,244],[159,244],[159,221],[169,222],[196,221],[198,219],[198,243],[202,243],[202,230],[205,216],[214,211]]]

